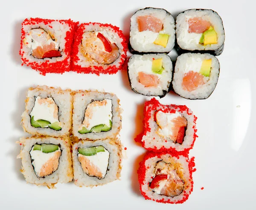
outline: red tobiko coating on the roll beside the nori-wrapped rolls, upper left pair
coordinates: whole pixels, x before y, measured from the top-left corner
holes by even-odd
[[[123,46],[123,51],[124,54],[121,55],[122,58],[119,62],[119,65],[113,65],[113,66],[88,66],[88,67],[81,67],[78,65],[79,57],[78,57],[78,52],[79,52],[79,45],[81,43],[82,36],[84,34],[84,29],[89,26],[90,24],[93,25],[98,25],[99,27],[111,27],[111,29],[118,34],[118,36],[122,39],[122,46]],[[84,73],[84,74],[89,74],[93,73],[96,75],[99,74],[116,74],[120,69],[123,69],[122,66],[125,63],[126,60],[126,53],[127,53],[127,48],[128,44],[125,39],[125,36],[123,35],[122,31],[119,29],[117,26],[112,26],[111,24],[102,24],[102,23],[82,23],[79,28],[76,31],[75,38],[74,38],[74,43],[73,43],[73,49],[72,49],[72,62],[71,62],[71,68],[73,71],[76,71],[78,73]]]

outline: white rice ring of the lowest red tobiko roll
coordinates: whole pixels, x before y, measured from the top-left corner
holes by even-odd
[[[159,195],[156,192],[153,192],[148,185],[148,183],[151,183],[152,177],[154,177],[154,168],[157,164],[157,161],[162,161],[162,160],[166,163],[171,163],[172,165],[178,165],[179,172],[182,173],[182,176],[180,178],[182,178],[184,182],[184,190],[178,196],[170,197],[170,196]],[[177,202],[183,199],[184,191],[186,191],[186,194],[190,194],[189,192],[191,192],[192,184],[191,184],[190,174],[189,174],[189,162],[188,162],[188,159],[185,158],[184,156],[180,155],[178,159],[176,157],[172,157],[169,154],[165,154],[165,155],[161,155],[160,158],[158,158],[157,156],[153,158],[148,158],[145,161],[145,168],[146,168],[145,180],[143,181],[141,190],[149,198],[154,199],[155,201],[163,199],[164,201],[168,201],[168,202]]]

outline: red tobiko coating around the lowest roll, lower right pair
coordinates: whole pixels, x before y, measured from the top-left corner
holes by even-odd
[[[149,198],[145,192],[143,192],[142,190],[142,186],[143,186],[143,182],[145,181],[146,178],[146,170],[147,168],[145,167],[145,162],[149,159],[149,158],[153,158],[153,157],[157,157],[157,158],[161,158],[161,155],[166,155],[166,154],[170,154],[169,152],[160,152],[160,153],[155,153],[155,152],[151,152],[148,151],[145,154],[145,157],[143,159],[143,161],[140,162],[140,166],[139,169],[137,170],[138,173],[138,181],[140,184],[140,193],[142,194],[142,196],[146,199],[146,200],[153,200],[153,201],[157,201],[158,203],[168,203],[168,204],[182,204],[183,202],[185,202],[188,198],[189,195],[192,193],[193,191],[193,185],[194,185],[194,181],[192,178],[192,173],[196,171],[195,169],[195,157],[190,158],[188,157],[188,154],[183,155],[186,158],[186,162],[188,162],[188,167],[189,167],[189,181],[191,183],[191,190],[189,192],[187,191],[183,191],[183,199],[177,201],[177,202],[173,202],[170,200],[165,201],[164,199],[160,199],[160,200],[155,200],[155,199],[151,199]],[[179,156],[181,155],[177,155],[176,154],[170,154],[172,157],[176,157],[179,158]]]

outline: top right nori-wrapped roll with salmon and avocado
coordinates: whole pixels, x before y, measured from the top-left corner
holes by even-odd
[[[188,9],[176,18],[177,51],[221,55],[225,33],[221,17],[211,9]]]

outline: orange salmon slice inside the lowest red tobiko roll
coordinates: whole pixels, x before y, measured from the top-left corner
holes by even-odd
[[[175,197],[180,195],[180,193],[183,192],[183,181],[182,179],[177,175],[175,170],[168,171],[168,179],[166,181],[166,184],[161,189],[160,194],[163,196],[170,196]]]

